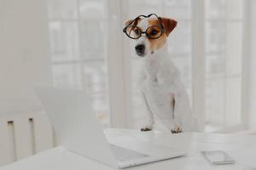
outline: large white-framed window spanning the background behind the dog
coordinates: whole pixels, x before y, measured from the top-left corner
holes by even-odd
[[[51,0],[54,82],[86,88],[105,126],[140,127],[141,63],[122,27],[138,14],[156,13],[177,20],[169,51],[204,130],[241,126],[244,7],[244,0]]]

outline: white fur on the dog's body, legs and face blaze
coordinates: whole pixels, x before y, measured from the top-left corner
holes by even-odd
[[[139,23],[145,30],[148,20]],[[197,131],[197,121],[191,114],[189,97],[180,79],[177,67],[168,54],[167,42],[160,50],[152,53],[148,38],[143,35],[136,44],[146,46],[143,65],[139,73],[138,85],[148,109],[148,119],[143,128],[154,127],[154,116],[170,130]],[[174,108],[172,100],[175,100]]]

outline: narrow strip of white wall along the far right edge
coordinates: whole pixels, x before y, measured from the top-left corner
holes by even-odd
[[[250,28],[250,98],[249,98],[249,127],[256,129],[256,1],[250,1],[251,28]]]

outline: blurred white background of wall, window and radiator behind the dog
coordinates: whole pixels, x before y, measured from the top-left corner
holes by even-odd
[[[253,0],[0,0],[0,165],[55,144],[34,83],[83,88],[103,127],[140,128],[141,60],[122,32],[139,14],[177,20],[169,51],[201,131],[256,133],[254,8]]]

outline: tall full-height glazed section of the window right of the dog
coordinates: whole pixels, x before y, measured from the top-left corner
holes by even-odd
[[[206,1],[207,131],[241,123],[242,0]]]

